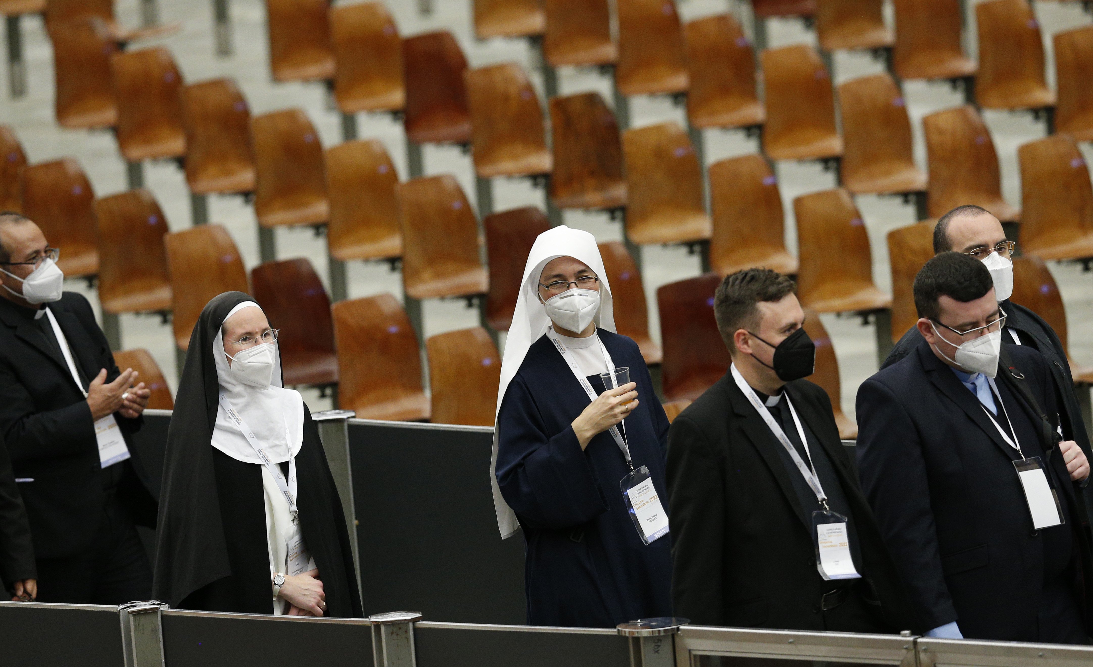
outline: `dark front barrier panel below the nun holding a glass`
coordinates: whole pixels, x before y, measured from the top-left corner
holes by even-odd
[[[626,638],[610,630],[414,624],[418,667],[630,667]]]

